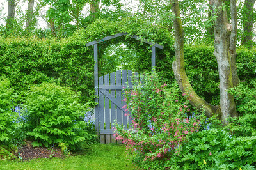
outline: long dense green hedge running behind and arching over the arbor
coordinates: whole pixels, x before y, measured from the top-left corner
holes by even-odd
[[[122,32],[142,36],[163,45],[163,50],[156,49],[156,70],[161,72],[162,77],[175,82],[172,72],[172,63],[175,60],[172,35],[165,29],[149,26],[143,20],[135,22],[132,19],[120,22],[96,20],[86,29],[77,30],[72,36],[60,40],[0,37],[0,73],[10,80],[15,91],[26,91],[32,84],[55,81],[60,82],[61,86],[81,91],[84,101],[93,102],[93,47],[86,47],[85,44]],[[106,50],[111,45],[120,43],[136,52],[136,58],[124,57],[125,62],[132,63],[134,71],[151,70],[150,46],[122,36],[99,43],[99,76],[118,70],[120,63],[115,64],[116,67],[113,65],[113,68],[105,65],[111,59]],[[212,45],[186,45],[185,68],[196,93],[207,102],[218,105],[218,66],[213,51]],[[255,49],[237,49],[237,72],[241,81],[249,83],[256,77],[255,65]]]

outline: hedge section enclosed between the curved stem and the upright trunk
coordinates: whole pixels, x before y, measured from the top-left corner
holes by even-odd
[[[184,57],[186,73],[195,92],[207,102],[218,105],[218,65],[213,51],[214,47],[206,44],[188,45],[184,48]]]

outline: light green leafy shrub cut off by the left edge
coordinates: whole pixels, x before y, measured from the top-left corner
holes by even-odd
[[[0,77],[0,143],[9,141],[13,130],[12,93],[8,79]]]

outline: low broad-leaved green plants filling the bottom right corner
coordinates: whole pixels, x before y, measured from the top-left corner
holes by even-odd
[[[196,132],[170,162],[180,169],[254,169],[255,139],[231,137],[228,132],[214,128]]]

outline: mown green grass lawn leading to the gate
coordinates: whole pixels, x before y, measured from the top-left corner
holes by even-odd
[[[1,161],[0,169],[137,169],[122,144],[93,144],[74,156],[29,161]]]

